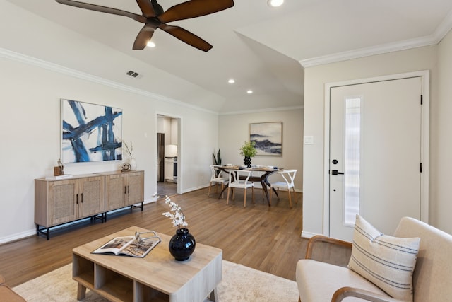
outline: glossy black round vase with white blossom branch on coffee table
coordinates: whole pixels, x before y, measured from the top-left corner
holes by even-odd
[[[169,252],[177,261],[187,260],[195,250],[196,240],[189,233],[189,229],[185,228],[189,224],[185,221],[185,215],[182,213],[181,207],[172,202],[169,197],[165,198],[165,204],[168,204],[171,210],[163,213],[163,215],[172,219],[172,225],[177,228],[176,235],[169,240]]]

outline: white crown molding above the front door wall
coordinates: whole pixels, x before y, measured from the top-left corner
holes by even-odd
[[[397,52],[400,50],[409,50],[416,47],[424,47],[429,45],[436,45],[447,33],[452,29],[452,11],[448,13],[446,18],[439,24],[432,35],[418,37],[415,39],[388,43],[383,45],[376,45],[373,47],[365,47],[358,50],[351,50],[348,52],[338,52],[335,54],[328,54],[321,57],[314,57],[311,59],[299,60],[304,68],[318,66],[323,64],[331,64],[335,62],[342,62],[350,59],[358,59],[361,57],[369,57],[376,54],[386,54],[388,52]]]

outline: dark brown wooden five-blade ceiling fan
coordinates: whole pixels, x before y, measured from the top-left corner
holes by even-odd
[[[157,0],[136,0],[136,3],[143,13],[143,15],[138,15],[136,13],[122,11],[117,8],[88,4],[80,1],[56,1],[60,4],[90,9],[91,11],[100,11],[102,13],[112,13],[114,15],[126,16],[135,21],[144,23],[144,27],[141,28],[140,32],[136,36],[135,42],[133,42],[133,50],[143,50],[148,44],[150,38],[153,36],[155,30],[160,28],[161,30],[169,33],[169,35],[177,37],[177,39],[182,42],[196,47],[198,50],[203,50],[204,52],[207,52],[213,46],[201,39],[201,37],[190,33],[188,30],[184,30],[184,28],[174,25],[167,25],[167,23],[205,16],[234,6],[234,0],[191,0],[174,5],[168,8],[167,11],[163,11],[162,6],[157,3]]]

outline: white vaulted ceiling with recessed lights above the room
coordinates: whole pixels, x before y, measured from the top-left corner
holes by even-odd
[[[220,114],[300,107],[302,64],[432,45],[452,28],[450,0],[285,0],[280,8],[268,7],[267,0],[235,0],[234,7],[225,11],[172,23],[210,42],[213,49],[209,52],[196,50],[162,30],[153,36],[157,47],[132,50],[143,25],[130,18],[54,0],[7,1],[120,52],[135,62],[129,68],[142,77],[132,82],[123,75],[126,70],[114,70],[115,63],[99,66],[101,60],[90,58],[86,45],[78,45],[80,56],[96,62],[85,72]],[[134,0],[84,1],[140,13]],[[166,10],[182,1],[159,3]],[[158,76],[156,71],[173,76],[178,84],[158,91],[151,83]],[[227,83],[231,77],[234,85]],[[248,89],[254,93],[246,94]],[[205,93],[196,100],[198,91]]]

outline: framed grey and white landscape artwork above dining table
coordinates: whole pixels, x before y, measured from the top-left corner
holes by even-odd
[[[283,156],[283,122],[249,124],[249,140],[256,142],[256,155]]]

